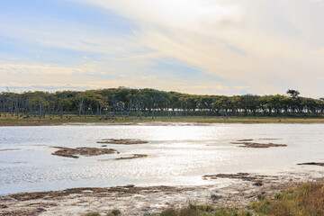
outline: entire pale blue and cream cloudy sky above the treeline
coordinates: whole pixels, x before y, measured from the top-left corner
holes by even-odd
[[[0,90],[324,96],[322,0],[1,0]]]

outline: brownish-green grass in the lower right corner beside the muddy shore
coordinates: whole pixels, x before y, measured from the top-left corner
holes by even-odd
[[[122,215],[113,210],[107,216]],[[245,207],[195,205],[189,203],[182,209],[169,208],[159,216],[322,216],[324,215],[324,181],[308,182],[286,189],[274,197],[259,195],[257,201]],[[100,216],[99,213],[87,216]]]

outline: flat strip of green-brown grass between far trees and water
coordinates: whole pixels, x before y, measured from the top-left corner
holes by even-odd
[[[191,116],[180,118],[168,118],[168,117],[142,117],[141,120],[136,117],[109,117],[99,118],[97,116],[82,116],[76,115],[66,116],[52,116],[46,118],[30,117],[30,118],[17,118],[12,116],[1,116],[0,126],[36,126],[36,125],[59,125],[64,123],[115,123],[115,122],[198,122],[198,123],[323,123],[324,118],[277,118],[277,117],[203,117],[203,116]]]

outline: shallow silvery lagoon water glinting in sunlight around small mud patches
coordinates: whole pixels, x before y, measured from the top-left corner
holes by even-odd
[[[62,125],[0,127],[0,194],[71,187],[211,184],[202,175],[283,175],[322,167],[324,124]],[[68,158],[61,147],[95,147],[100,139],[145,139],[148,144],[113,145],[121,154]],[[281,148],[238,148],[238,139],[287,144]],[[267,140],[274,139],[274,140]],[[8,150],[11,149],[11,150]],[[130,154],[148,157],[106,160]]]

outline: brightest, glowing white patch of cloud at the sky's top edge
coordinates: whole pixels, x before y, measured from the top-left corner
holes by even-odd
[[[156,23],[159,26],[193,29],[203,23],[237,22],[242,15],[236,4],[220,5],[210,0],[79,0],[79,2],[101,5],[148,26]]]

